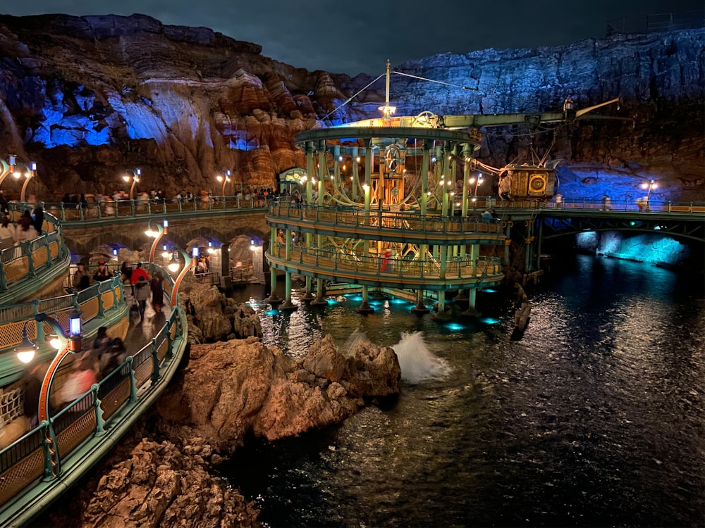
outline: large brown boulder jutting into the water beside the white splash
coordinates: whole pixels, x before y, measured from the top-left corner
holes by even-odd
[[[391,348],[370,343],[346,356],[326,336],[295,362],[250,337],[192,346],[182,382],[157,408],[169,435],[231,452],[247,433],[275,440],[341,422],[365,398],[398,393],[400,372]]]

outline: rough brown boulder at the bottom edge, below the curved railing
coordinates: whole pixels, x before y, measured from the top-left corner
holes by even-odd
[[[67,509],[51,515],[54,526],[257,527],[258,510],[237,490],[206,471],[206,446],[180,449],[142,439],[130,453],[82,486]],[[97,482],[96,482],[97,481]]]

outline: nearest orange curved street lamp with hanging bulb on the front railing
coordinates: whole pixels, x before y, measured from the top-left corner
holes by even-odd
[[[82,322],[81,313],[78,310],[71,310],[68,315],[68,335],[64,329],[59,325],[59,322],[46,313],[37,313],[35,315],[35,321],[37,324],[46,322],[54,330],[52,337],[52,346],[56,348],[56,356],[51,360],[47,373],[44,375],[44,380],[42,381],[42,389],[39,391],[39,422],[44,422],[49,420],[49,395],[51,394],[51,384],[54,382],[54,376],[59,370],[59,365],[63,358],[65,358],[69,353],[80,353],[81,352],[81,342],[82,342]],[[27,337],[27,322],[25,322],[25,327],[23,330],[23,341],[15,348],[15,353],[20,361],[23,363],[30,363],[35,356],[35,351],[37,346],[30,341]],[[49,453],[51,455],[51,467],[53,470],[51,474],[57,476],[61,473],[60,463],[61,460],[56,456],[56,447],[52,444],[54,440],[52,435],[47,434],[47,441],[49,442]],[[46,475],[51,476],[51,475]]]

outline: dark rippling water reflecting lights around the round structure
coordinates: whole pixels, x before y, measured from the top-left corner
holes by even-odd
[[[367,317],[353,298],[262,307],[264,341],[292,356],[326,333],[393,346],[401,394],[248,441],[221,470],[270,527],[703,526],[705,295],[690,280],[576,256],[543,277],[518,341],[499,294],[452,324],[388,299]]]

